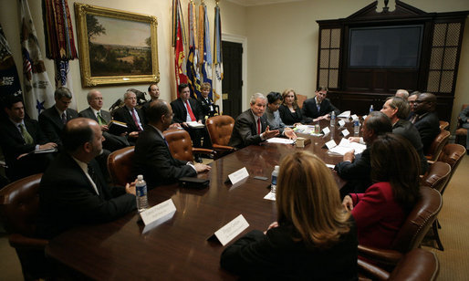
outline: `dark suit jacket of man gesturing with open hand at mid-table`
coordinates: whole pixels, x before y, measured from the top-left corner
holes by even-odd
[[[264,132],[266,128],[266,117],[261,116],[261,132]],[[234,121],[234,128],[228,145],[242,149],[248,145],[257,144],[261,141],[261,136],[257,134],[257,124],[255,123],[253,111],[251,109],[247,109]]]

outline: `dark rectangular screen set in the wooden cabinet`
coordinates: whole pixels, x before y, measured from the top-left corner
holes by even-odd
[[[349,68],[418,68],[423,25],[349,29]]]

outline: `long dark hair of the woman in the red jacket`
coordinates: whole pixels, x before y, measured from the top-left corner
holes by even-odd
[[[420,197],[420,160],[409,140],[386,133],[371,144],[372,182],[390,182],[394,200],[410,212]]]

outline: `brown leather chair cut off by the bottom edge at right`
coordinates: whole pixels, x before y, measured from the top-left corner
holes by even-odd
[[[360,272],[372,280],[436,280],[440,272],[438,258],[432,252],[413,249],[404,255],[391,273],[376,265],[359,260]],[[360,280],[370,280],[360,276]]]

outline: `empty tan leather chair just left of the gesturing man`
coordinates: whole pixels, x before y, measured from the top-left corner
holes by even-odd
[[[218,157],[234,151],[234,147],[228,146],[234,128],[233,117],[229,115],[214,116],[207,119],[205,124]]]

